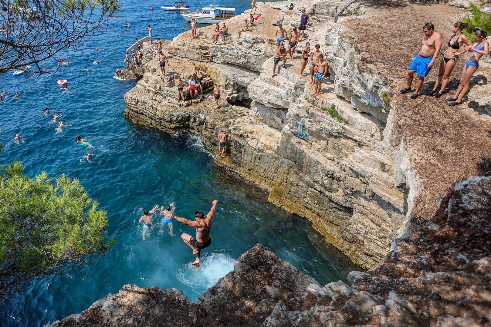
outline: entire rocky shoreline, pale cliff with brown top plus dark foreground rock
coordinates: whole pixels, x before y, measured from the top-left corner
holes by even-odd
[[[491,65],[482,63],[461,106],[410,101],[398,90],[421,26],[437,23],[447,40],[448,26],[465,10],[363,1],[333,24],[348,2],[300,1],[294,10],[286,9],[289,2],[259,3],[262,16],[252,31],[217,45],[213,26],[200,28],[197,41],[185,32],[164,46],[170,64],[164,78],[156,47],[145,44],[144,73],[125,95],[125,117],[191,132],[214,153],[224,129],[228,155],[215,156],[218,166],[310,220],[370,271],[352,272],[351,285],[323,287],[257,245],[196,303],[177,290],[126,285],[53,326],[491,326],[491,181],[469,179],[491,175]],[[315,98],[309,76],[300,76],[299,53],[271,77],[276,25],[297,25],[301,8],[313,23],[297,50],[318,43],[329,65],[330,80]],[[239,29],[243,17],[229,20],[229,30]],[[204,93],[178,102],[175,80],[186,81],[194,68],[204,76]],[[219,108],[213,83],[226,100]],[[168,305],[172,317],[162,309]]]

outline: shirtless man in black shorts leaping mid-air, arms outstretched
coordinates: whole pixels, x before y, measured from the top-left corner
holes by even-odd
[[[203,215],[203,211],[201,210],[194,212],[194,218],[196,221],[172,215],[172,218],[178,222],[191,227],[196,227],[196,236],[191,236],[187,233],[181,234],[181,238],[183,239],[184,243],[186,243],[186,245],[192,249],[192,254],[196,254],[196,260],[194,260],[192,263],[194,266],[199,265],[201,250],[209,247],[212,243],[212,239],[210,238],[210,230],[212,228],[212,218],[217,208],[217,202],[218,200],[213,201],[213,206],[206,216]]]

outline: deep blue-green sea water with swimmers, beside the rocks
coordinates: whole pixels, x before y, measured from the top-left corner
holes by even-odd
[[[126,283],[176,287],[195,300],[256,243],[322,284],[345,280],[356,269],[308,221],[287,214],[268,203],[261,191],[220,172],[198,138],[167,135],[123,118],[124,93],[135,85],[113,78],[115,69],[124,66],[124,50],[136,35],[147,34],[148,24],[154,37],[162,39],[189,29],[176,13],[161,11],[160,6],[169,3],[152,4],[151,13],[150,5],[138,8],[137,3],[124,0],[121,17],[112,20],[108,32],[87,42],[81,49],[85,55],[80,50],[70,54],[72,65],[55,75],[34,81],[0,76],[0,90],[9,92],[0,102],[0,142],[5,145],[0,164],[21,159],[31,176],[45,170],[50,176],[65,173],[80,178],[90,196],[108,210],[109,235],[116,239],[111,251],[86,269],[86,275],[63,277],[47,289],[46,281],[39,281],[26,290],[26,301],[17,297],[18,304],[2,305],[0,326],[42,326],[82,311]],[[197,7],[197,2],[188,3],[191,9]],[[234,5],[240,12],[249,2]],[[126,22],[132,26],[123,33]],[[105,50],[96,52],[95,47]],[[91,64],[95,59],[103,63]],[[84,72],[84,66],[90,71]],[[68,79],[69,94],[56,86],[60,77]],[[14,92],[19,92],[20,100],[12,99]],[[56,135],[55,124],[43,115],[46,107],[63,113],[61,120],[73,126]],[[26,143],[9,144],[16,133]],[[87,138],[95,147],[91,152],[99,154],[92,164],[79,162],[85,149],[75,145],[77,135]],[[191,218],[197,209],[209,210],[214,199],[218,210],[213,243],[203,252],[199,270],[191,266],[194,257],[179,237],[182,232],[192,233],[192,228],[175,223],[173,236],[156,227],[142,240],[137,220],[143,209],[175,202],[176,213]],[[159,220],[157,215],[155,221]]]

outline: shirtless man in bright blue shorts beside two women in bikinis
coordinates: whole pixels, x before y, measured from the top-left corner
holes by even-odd
[[[423,34],[421,49],[412,60],[411,66],[409,66],[408,83],[406,84],[406,88],[401,90],[402,94],[411,90],[412,79],[414,78],[414,73],[416,73],[418,75],[418,82],[416,83],[416,90],[414,90],[411,99],[418,97],[425,77],[430,73],[430,70],[435,64],[436,57],[440,53],[441,48],[441,34],[435,31],[432,23],[426,23],[423,26]]]

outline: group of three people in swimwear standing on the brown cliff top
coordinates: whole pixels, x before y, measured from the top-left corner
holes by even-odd
[[[463,33],[463,29],[466,26],[467,24],[462,22],[457,22],[453,25],[453,34],[447,43],[448,48],[445,50],[440,60],[440,67],[435,86],[428,92],[429,96],[434,95],[435,98],[440,98],[448,85],[449,76],[456,66],[459,56],[465,52],[471,52],[472,55],[464,63],[459,86],[455,92],[455,95],[452,98],[445,99],[445,101],[450,102],[449,105],[452,106],[462,103],[465,94],[469,90],[469,82],[479,68],[479,60],[483,56],[489,55],[490,53],[489,43],[486,41],[486,31],[482,29],[477,29],[475,31],[473,35],[475,45],[473,45]],[[423,26],[423,34],[421,49],[409,66],[407,85],[401,90],[402,94],[411,91],[411,84],[414,74],[416,74],[418,76],[418,80],[416,83],[416,89],[414,90],[411,99],[416,99],[419,96],[419,91],[423,85],[424,79],[433,68],[442,47],[441,34],[435,31],[435,27],[432,23],[426,23]],[[460,50],[461,48],[463,48],[463,50]],[[440,82],[441,87],[437,91]]]

